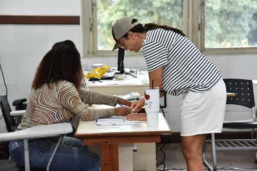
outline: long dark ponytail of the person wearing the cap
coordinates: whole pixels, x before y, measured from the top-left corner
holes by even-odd
[[[132,20],[132,24],[137,22],[137,20],[134,18]],[[154,24],[154,23],[147,23],[144,24],[144,28],[142,27],[142,24],[138,24],[136,26],[134,26],[132,29],[130,29],[131,32],[133,33],[143,33],[144,31],[149,31],[149,30],[154,30],[154,29],[158,29],[158,28],[162,28],[164,30],[172,30],[178,34],[181,34],[182,36],[186,36],[181,30],[167,26],[167,25],[158,25],[158,24]],[[125,35],[123,35],[124,38],[127,38],[127,33]]]

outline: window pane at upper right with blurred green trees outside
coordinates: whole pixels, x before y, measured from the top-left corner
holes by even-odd
[[[201,50],[240,51],[257,47],[257,1],[206,0],[202,10]],[[216,50],[215,50],[216,49]]]

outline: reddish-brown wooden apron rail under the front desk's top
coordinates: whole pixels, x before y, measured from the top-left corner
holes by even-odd
[[[93,144],[130,144],[160,142],[160,136],[133,136],[133,137],[85,137],[84,145]]]

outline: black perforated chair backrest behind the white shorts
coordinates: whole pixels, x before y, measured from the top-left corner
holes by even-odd
[[[252,108],[255,106],[252,80],[223,79],[227,92],[235,93],[235,97],[228,97],[227,104],[236,104]]]

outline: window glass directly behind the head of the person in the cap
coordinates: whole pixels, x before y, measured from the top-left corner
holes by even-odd
[[[97,50],[112,50],[112,25],[123,16],[140,23],[156,23],[183,29],[183,1],[97,0]]]

